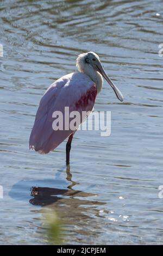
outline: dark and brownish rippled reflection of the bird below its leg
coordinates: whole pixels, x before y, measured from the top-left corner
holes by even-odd
[[[71,181],[71,185],[67,189],[49,188],[49,187],[32,187],[30,203],[33,205],[49,206],[58,213],[71,234],[78,233],[78,238],[82,240],[82,236],[93,237],[93,230],[97,236],[98,228],[100,228],[98,213],[100,205],[104,203],[96,200],[96,194],[74,190],[72,187],[77,183],[72,181],[70,167],[67,167],[67,180]],[[86,197],[95,197],[95,200],[87,200]],[[99,226],[99,227],[98,227]],[[68,231],[67,230],[67,231]],[[84,238],[83,237],[83,238]],[[91,243],[91,241],[90,241]]]

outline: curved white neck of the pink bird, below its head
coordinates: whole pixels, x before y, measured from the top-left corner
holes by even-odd
[[[89,76],[93,82],[96,84],[97,93],[101,92],[103,86],[103,77],[99,72],[92,68],[92,66],[84,67],[83,70],[79,70],[79,72],[84,73],[85,75]]]

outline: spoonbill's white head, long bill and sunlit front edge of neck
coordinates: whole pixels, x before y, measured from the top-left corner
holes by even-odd
[[[77,68],[79,72],[82,72],[89,76],[93,82],[96,83],[97,91],[100,92],[103,84],[103,78],[110,84],[114,90],[117,98],[120,101],[123,101],[123,95],[120,90],[115,86],[114,83],[110,80],[105,70],[102,67],[101,61],[99,60],[98,55],[95,52],[82,53],[77,58]]]

